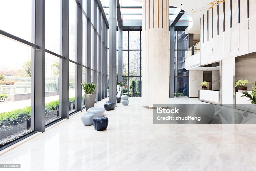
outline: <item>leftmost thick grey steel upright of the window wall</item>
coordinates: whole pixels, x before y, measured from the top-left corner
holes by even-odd
[[[31,107],[31,123],[34,123],[34,130],[45,131],[45,0],[35,0],[35,44],[40,48],[34,50],[32,59],[32,77],[34,86],[31,85],[33,96],[31,100],[34,105]],[[31,95],[32,95],[31,94]],[[33,104],[33,103],[32,103]],[[34,117],[33,117],[34,116]]]

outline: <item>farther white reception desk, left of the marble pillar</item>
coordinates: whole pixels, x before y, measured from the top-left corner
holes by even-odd
[[[220,104],[219,90],[199,90],[198,99],[201,102]]]

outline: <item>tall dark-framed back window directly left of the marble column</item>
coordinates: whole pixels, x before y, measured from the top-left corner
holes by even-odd
[[[141,31],[123,31],[123,94],[141,97]]]

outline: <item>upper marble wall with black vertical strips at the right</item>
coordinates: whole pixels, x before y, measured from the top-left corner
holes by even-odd
[[[249,18],[247,18],[247,0],[240,0],[240,15],[238,13],[237,0],[225,0],[213,8],[208,9],[209,29],[207,30],[207,12],[204,13],[204,33],[201,28],[201,35],[205,41],[201,40],[201,65],[216,62],[229,57],[256,52],[256,1],[249,0]],[[230,10],[230,2],[232,2]],[[225,7],[225,8],[224,8]],[[213,29],[212,29],[213,11]],[[223,13],[223,11],[225,13]],[[230,22],[231,11],[231,22]],[[238,21],[238,15],[240,20]],[[224,29],[223,29],[223,20]],[[201,27],[203,26],[201,17]],[[217,31],[219,34],[217,34]],[[213,32],[213,38],[211,36]],[[207,33],[209,38],[207,41]],[[202,36],[201,36],[202,37]],[[203,49],[202,49],[203,48]]]

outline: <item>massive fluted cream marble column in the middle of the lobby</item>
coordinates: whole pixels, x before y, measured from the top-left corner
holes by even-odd
[[[142,105],[168,103],[169,1],[143,0]]]

